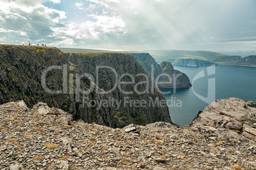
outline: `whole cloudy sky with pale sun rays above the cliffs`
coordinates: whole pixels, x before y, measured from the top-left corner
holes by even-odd
[[[256,0],[0,0],[0,43],[256,49]]]

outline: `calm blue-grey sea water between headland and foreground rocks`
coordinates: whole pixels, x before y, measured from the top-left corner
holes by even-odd
[[[199,110],[215,100],[236,97],[256,103],[256,67],[211,66],[174,69],[188,75],[191,88],[162,89],[171,120],[187,126]]]

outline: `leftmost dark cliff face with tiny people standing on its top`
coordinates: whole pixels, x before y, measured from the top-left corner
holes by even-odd
[[[39,100],[48,105],[74,111],[71,98],[66,95],[50,95],[41,86],[43,70],[52,65],[68,64],[68,58],[59,49],[34,46],[0,46],[0,103],[24,100],[32,107]],[[47,77],[50,89],[61,89],[62,72],[55,70]],[[68,104],[69,103],[69,104]]]

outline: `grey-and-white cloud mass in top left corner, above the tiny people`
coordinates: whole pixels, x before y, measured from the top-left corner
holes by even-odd
[[[53,34],[52,27],[59,27],[60,21],[66,18],[64,11],[47,8],[39,2],[27,5],[29,2],[0,1],[0,34],[5,33],[5,41],[46,41]]]

